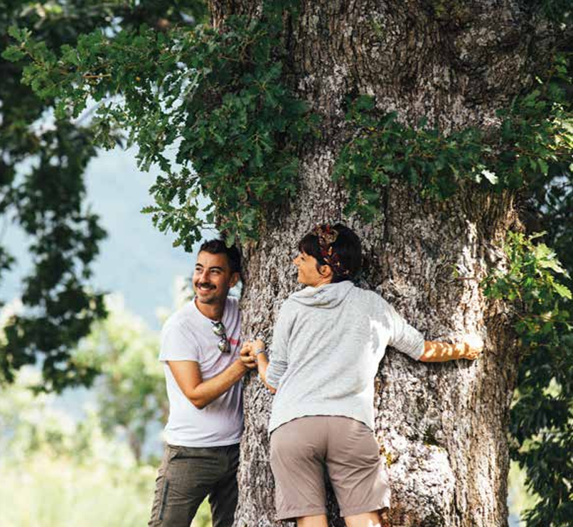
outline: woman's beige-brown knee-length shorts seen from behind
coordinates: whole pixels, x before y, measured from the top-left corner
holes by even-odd
[[[277,520],[326,514],[327,474],[341,516],[390,506],[378,442],[354,419],[314,415],[279,426],[271,434],[271,468]]]

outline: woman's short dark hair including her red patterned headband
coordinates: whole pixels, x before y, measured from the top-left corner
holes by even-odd
[[[314,256],[317,271],[321,266],[330,266],[332,283],[352,280],[362,266],[360,238],[341,223],[318,225],[299,241],[299,251]]]

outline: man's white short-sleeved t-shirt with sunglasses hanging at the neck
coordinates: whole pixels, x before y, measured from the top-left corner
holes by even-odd
[[[213,332],[213,320],[205,317],[191,300],[167,319],[161,331],[159,360],[164,362],[169,418],[165,438],[169,445],[217,447],[240,442],[243,429],[242,383],[238,381],[222,396],[199,410],[183,395],[165,361],[194,361],[203,381],[227,369],[240,356],[241,320],[236,298],[227,298],[223,325],[230,353],[218,349],[220,336]]]

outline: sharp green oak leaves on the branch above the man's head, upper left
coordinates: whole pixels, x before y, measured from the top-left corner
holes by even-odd
[[[191,251],[201,227],[215,220],[228,243],[255,239],[263,212],[294,192],[297,150],[313,118],[282,80],[281,29],[282,9],[270,4],[261,20],[229,17],[220,30],[141,26],[114,38],[94,31],[58,55],[14,30],[18,44],[4,57],[30,59],[23,82],[57,99],[58,116],[79,115],[90,97],[102,101],[96,138],[103,146],[114,145],[115,127],[129,129],[140,167],[157,163],[164,171],[151,188],[156,204],[144,212]],[[181,170],[165,155],[171,146]],[[210,200],[206,210],[200,195]]]

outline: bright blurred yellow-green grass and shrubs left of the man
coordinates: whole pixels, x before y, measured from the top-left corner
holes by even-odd
[[[34,393],[37,369],[26,367],[0,391],[2,527],[146,525],[159,467],[166,408],[159,335],[107,298],[109,317],[72,356],[101,367],[85,399]],[[76,390],[77,392],[77,390]],[[64,393],[70,396],[70,393]],[[208,503],[193,527],[210,527]]]

